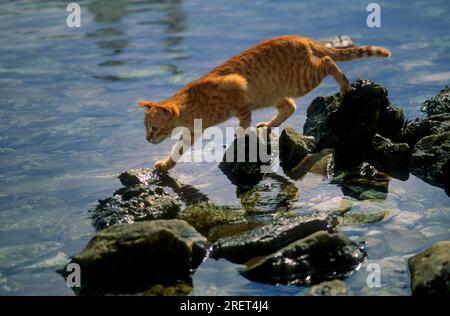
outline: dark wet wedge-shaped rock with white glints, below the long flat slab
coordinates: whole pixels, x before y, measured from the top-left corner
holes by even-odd
[[[270,284],[315,284],[353,272],[364,257],[345,235],[319,231],[248,266],[242,274]]]

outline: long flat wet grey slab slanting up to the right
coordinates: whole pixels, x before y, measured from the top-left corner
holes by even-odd
[[[278,218],[273,223],[241,235],[219,239],[213,245],[211,256],[243,263],[273,253],[319,230],[329,229],[331,225],[326,214]]]

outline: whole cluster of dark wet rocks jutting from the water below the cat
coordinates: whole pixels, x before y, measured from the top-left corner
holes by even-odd
[[[356,210],[385,200],[393,178],[405,180],[412,173],[447,194],[450,179],[448,88],[424,103],[426,117],[407,121],[386,88],[366,79],[352,87],[344,97],[313,100],[303,134],[292,127],[281,133],[279,159],[288,178],[274,200],[282,208],[262,212],[264,203],[256,198],[263,192],[255,185],[269,177],[260,172],[267,162],[220,164],[238,187],[242,208],[215,205],[151,169],[121,174],[124,187],[90,212],[98,232],[71,260],[83,271],[77,293],[186,295],[199,265],[223,258],[245,264],[240,273],[251,281],[308,286],[307,295],[347,295],[345,278],[370,253],[342,227],[389,216],[386,209]],[[227,150],[234,153],[233,146]],[[298,211],[292,182],[309,174],[337,185],[343,198]],[[184,199],[186,192],[195,202]],[[449,241],[411,254],[413,295],[450,294],[449,254]]]

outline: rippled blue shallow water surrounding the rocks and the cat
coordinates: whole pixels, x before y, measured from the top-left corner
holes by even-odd
[[[280,1],[281,2],[281,1]],[[390,60],[340,66],[350,80],[385,85],[408,118],[450,81],[447,1],[379,1],[382,27],[366,26],[361,1],[79,1],[82,27],[69,29],[64,1],[0,1],[0,294],[73,295],[55,273],[94,233],[88,209],[120,187],[116,176],[152,166],[170,141],[144,139],[139,98],[161,99],[248,46],[274,35],[350,35],[389,47]],[[297,100],[286,125],[301,129],[314,97],[337,91],[332,79]],[[258,111],[254,122],[273,110]],[[231,120],[228,123],[235,123]],[[225,124],[223,125],[225,126]],[[180,164],[171,175],[218,203],[240,205],[215,164]],[[263,185],[277,182],[266,179]],[[342,196],[307,177],[296,202]],[[409,294],[405,258],[450,238],[450,199],[414,176],[392,180],[376,208],[390,216],[342,230],[367,242],[382,287],[366,286],[365,266],[346,279],[358,295]],[[238,265],[207,260],[192,294],[286,295],[299,287],[252,283]]]

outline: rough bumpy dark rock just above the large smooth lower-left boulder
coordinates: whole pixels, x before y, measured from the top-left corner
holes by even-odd
[[[137,184],[121,188],[112,197],[99,200],[96,208],[91,210],[91,217],[93,226],[100,230],[119,223],[171,219],[179,211],[177,196],[166,193],[161,187]]]

